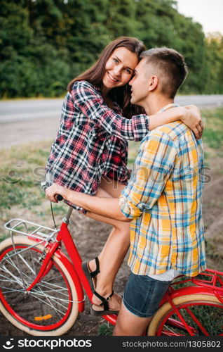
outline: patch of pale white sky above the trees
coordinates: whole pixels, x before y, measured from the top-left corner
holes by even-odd
[[[192,17],[203,26],[203,32],[223,35],[223,0],[177,0],[178,12]]]

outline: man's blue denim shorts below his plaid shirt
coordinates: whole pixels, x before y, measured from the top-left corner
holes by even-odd
[[[141,318],[149,318],[158,310],[170,282],[131,272],[124,291],[123,304],[130,313]]]

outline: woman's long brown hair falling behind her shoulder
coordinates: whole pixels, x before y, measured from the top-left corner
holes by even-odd
[[[104,77],[105,65],[112,55],[113,51],[117,48],[125,47],[131,52],[135,53],[139,58],[142,54],[142,51],[145,50],[145,46],[143,42],[134,37],[119,37],[115,39],[112,43],[108,44],[100,57],[96,61],[96,63],[88,68],[84,73],[81,73],[78,77],[75,77],[71,80],[67,86],[67,90],[71,92],[72,86],[76,81],[87,81],[93,84],[95,87],[99,87],[102,89],[102,79]],[[144,113],[144,110],[139,106],[132,105],[130,103],[131,99],[131,87],[129,84],[125,84],[123,87],[113,88],[110,91],[110,97],[113,101],[121,106],[123,109],[123,116],[126,118],[131,118],[133,115],[137,115],[139,113]]]

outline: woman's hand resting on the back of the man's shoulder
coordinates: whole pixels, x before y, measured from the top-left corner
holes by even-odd
[[[184,106],[182,122],[187,125],[195,134],[196,139],[200,139],[203,134],[203,121],[201,112],[195,105]]]

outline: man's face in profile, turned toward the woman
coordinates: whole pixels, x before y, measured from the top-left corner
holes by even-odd
[[[143,102],[149,94],[149,71],[146,59],[142,58],[135,68],[134,77],[129,82],[132,87],[132,104],[143,106]]]

